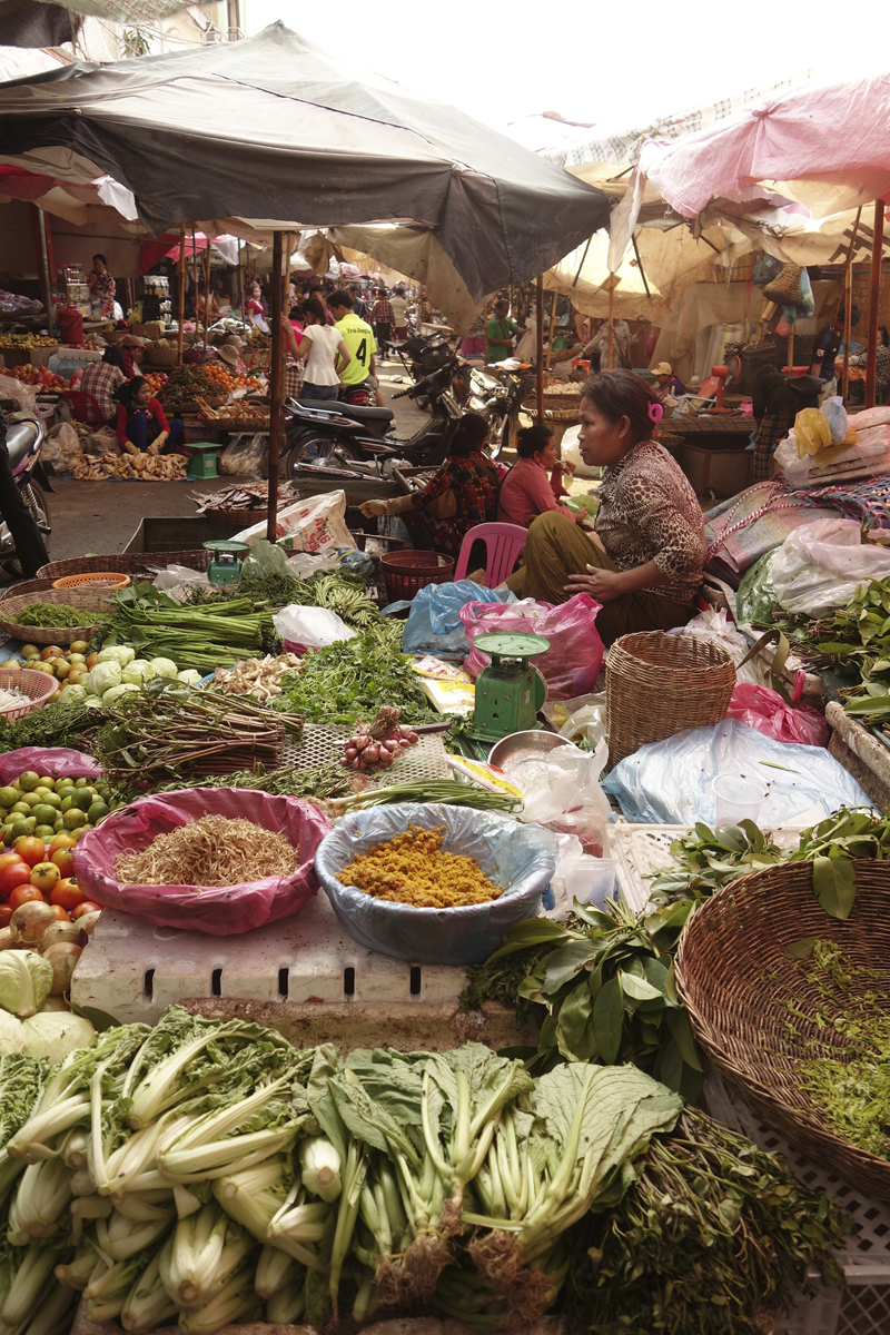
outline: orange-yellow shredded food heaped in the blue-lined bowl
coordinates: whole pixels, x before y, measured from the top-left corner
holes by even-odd
[[[443,853],[443,840],[442,826],[424,830],[410,825],[404,834],[354,857],[339,873],[340,884],[416,909],[452,909],[496,900],[502,892],[475,857]]]

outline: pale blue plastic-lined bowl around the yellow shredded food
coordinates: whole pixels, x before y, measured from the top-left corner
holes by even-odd
[[[454,909],[418,909],[342,885],[338,873],[375,844],[403,834],[408,825],[443,826],[446,853],[475,857],[503,888],[487,904]],[[80,846],[80,845],[79,845]],[[502,944],[504,928],[534,917],[556,868],[556,838],[508,816],[438,802],[395,802],[354,812],[327,836],[315,857],[322,888],[340,926],[370,951],[412,964],[479,964]]]

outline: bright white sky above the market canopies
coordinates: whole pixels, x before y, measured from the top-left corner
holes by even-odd
[[[886,44],[866,40],[874,20],[886,33],[886,12],[883,0],[863,0],[846,16],[837,0],[803,9],[778,0],[242,0],[248,33],[280,19],[350,67],[396,79],[498,129],[543,111],[623,129],[807,71],[838,79],[890,71]]]

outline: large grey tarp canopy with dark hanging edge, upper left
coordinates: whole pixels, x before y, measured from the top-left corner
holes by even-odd
[[[196,219],[418,222],[475,300],[550,268],[610,207],[511,139],[348,69],[280,23],[1,84],[0,162],[68,180],[108,174],[153,232]]]

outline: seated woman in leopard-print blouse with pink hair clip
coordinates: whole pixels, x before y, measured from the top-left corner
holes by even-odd
[[[602,466],[595,531],[562,514],[528,530],[526,565],[507,587],[520,598],[566,602],[588,593],[603,603],[596,629],[606,645],[634,630],[669,630],[695,613],[705,523],[695,493],[652,439],[662,409],[632,371],[600,371],[584,383],[578,446]]]

